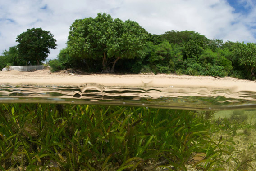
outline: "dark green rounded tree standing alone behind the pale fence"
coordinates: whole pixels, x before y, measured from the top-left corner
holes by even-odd
[[[39,65],[46,60],[50,49],[56,49],[56,40],[50,31],[41,28],[27,29],[26,32],[16,38],[18,54],[21,60],[27,64]]]

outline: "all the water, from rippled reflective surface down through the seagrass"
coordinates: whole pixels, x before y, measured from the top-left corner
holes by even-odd
[[[256,92],[0,85],[0,169],[256,169]]]

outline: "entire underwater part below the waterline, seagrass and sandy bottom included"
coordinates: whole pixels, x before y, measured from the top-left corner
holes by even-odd
[[[0,169],[253,170],[255,110],[0,104]]]

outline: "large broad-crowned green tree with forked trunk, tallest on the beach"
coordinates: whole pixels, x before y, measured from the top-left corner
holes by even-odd
[[[119,59],[143,57],[148,33],[137,22],[106,13],[76,20],[70,27],[67,50],[73,57],[101,59],[104,72],[114,72]],[[110,69],[111,67],[111,69]]]

